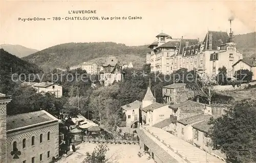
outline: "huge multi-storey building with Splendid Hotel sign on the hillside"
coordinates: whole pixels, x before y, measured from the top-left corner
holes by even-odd
[[[243,59],[242,53],[237,51],[237,44],[232,41],[230,28],[229,36],[226,32],[208,31],[203,42],[199,39],[173,39],[164,33],[156,36],[157,41],[148,48],[147,64],[151,64],[151,72],[170,74],[180,68],[188,71],[196,69],[208,75],[217,75],[218,68],[225,66],[227,74],[234,74],[232,65]]]

